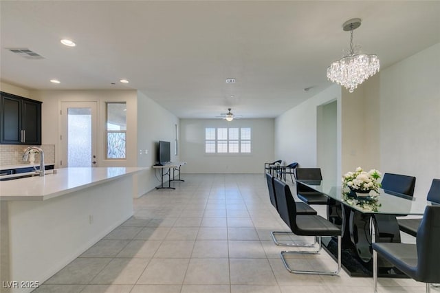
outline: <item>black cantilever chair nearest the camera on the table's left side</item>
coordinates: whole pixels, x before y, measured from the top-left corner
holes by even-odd
[[[297,274],[339,274],[341,270],[341,245],[342,245],[342,231],[337,226],[331,224],[327,219],[319,215],[298,215],[296,213],[296,204],[290,188],[285,182],[274,178],[274,188],[276,202],[278,204],[278,213],[281,219],[285,221],[290,230],[298,236],[313,236],[317,239],[319,247],[316,251],[282,251],[281,259],[285,268],[292,273]],[[322,248],[322,236],[338,237],[338,268],[335,271],[314,271],[314,270],[294,270],[289,266],[286,260],[287,254],[318,254]]]

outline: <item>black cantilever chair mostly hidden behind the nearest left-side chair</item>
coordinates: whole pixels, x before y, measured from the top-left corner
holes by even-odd
[[[278,211],[278,204],[276,203],[276,196],[275,196],[275,189],[274,189],[274,176],[270,175],[269,173],[266,173],[266,181],[267,181],[267,189],[269,190],[269,197],[270,202],[274,208]],[[304,202],[295,202],[296,204],[296,210],[298,215],[317,215],[318,213],[316,210],[311,208],[308,204]],[[270,232],[272,235],[272,239],[274,240],[274,243],[277,246],[305,246],[305,247],[314,247],[316,245],[316,242],[313,244],[305,244],[305,245],[298,245],[293,242],[280,242],[278,239],[276,239],[276,235],[292,235],[292,231],[272,231]]]

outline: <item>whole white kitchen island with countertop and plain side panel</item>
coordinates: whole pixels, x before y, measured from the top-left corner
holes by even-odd
[[[30,292],[133,215],[144,168],[65,168],[0,182],[0,292]]]

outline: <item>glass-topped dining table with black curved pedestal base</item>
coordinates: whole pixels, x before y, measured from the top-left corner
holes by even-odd
[[[342,186],[325,180],[296,180],[314,191],[327,195],[327,219],[342,230],[342,267],[351,276],[373,276],[373,250],[371,243],[400,242],[396,217],[423,215],[431,205],[426,197],[410,197],[380,189],[379,197],[354,198]],[[323,246],[336,255],[336,241],[328,238]],[[379,259],[379,276],[406,277],[393,265]]]

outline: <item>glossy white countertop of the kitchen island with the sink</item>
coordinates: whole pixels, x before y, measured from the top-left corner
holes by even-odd
[[[101,184],[147,168],[63,168],[44,177],[0,181],[0,200],[46,200]],[[25,175],[21,173],[18,175]]]

